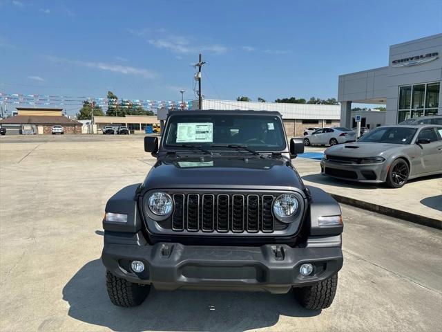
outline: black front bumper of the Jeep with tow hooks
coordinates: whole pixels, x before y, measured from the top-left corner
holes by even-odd
[[[134,273],[131,261],[144,262],[142,273]],[[343,266],[342,250],[291,248],[287,245],[260,247],[184,246],[156,243],[153,246],[105,243],[104,266],[118,277],[155,288],[210,288],[264,290],[287,293],[291,286],[309,286],[334,275]],[[299,273],[303,263],[314,265],[314,273]]]

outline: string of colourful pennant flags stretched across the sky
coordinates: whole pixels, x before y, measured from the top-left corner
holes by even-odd
[[[2,93],[0,92],[0,104],[24,104],[30,106],[65,106],[78,105],[81,107],[84,101],[88,101],[94,106],[108,108],[134,108],[142,107],[146,111],[156,113],[158,109],[191,109],[192,100],[147,100],[147,99],[115,99],[115,98],[91,98],[86,96],[68,95],[37,95],[22,93]]]

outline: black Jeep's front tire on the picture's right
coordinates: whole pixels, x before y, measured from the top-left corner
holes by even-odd
[[[337,287],[338,274],[336,273],[313,286],[294,288],[294,292],[301,306],[309,310],[320,310],[332,305]]]

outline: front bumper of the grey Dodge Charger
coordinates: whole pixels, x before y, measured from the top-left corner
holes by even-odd
[[[320,160],[320,172],[325,176],[363,183],[383,183],[387,177],[385,162],[376,164],[345,164]]]

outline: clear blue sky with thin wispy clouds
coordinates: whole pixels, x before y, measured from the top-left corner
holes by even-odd
[[[336,98],[338,75],[442,32],[442,1],[0,0],[0,92]],[[71,110],[69,110],[71,111]]]

